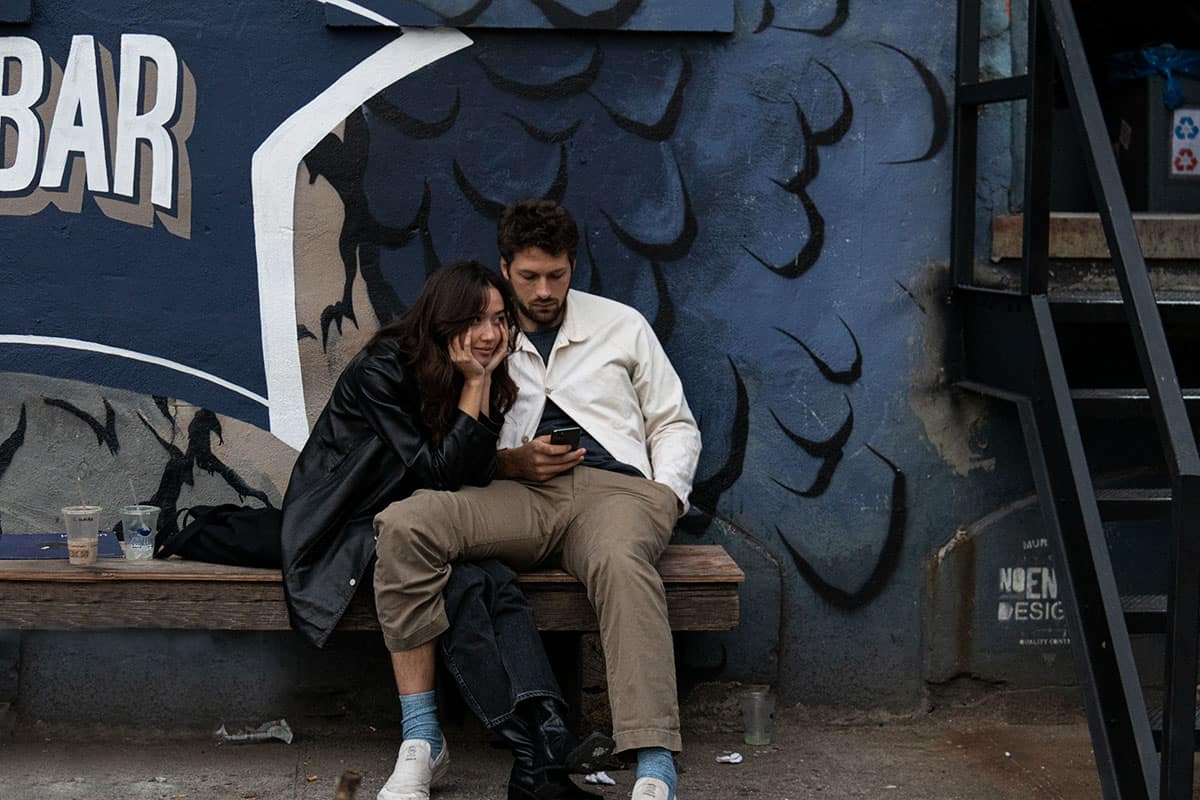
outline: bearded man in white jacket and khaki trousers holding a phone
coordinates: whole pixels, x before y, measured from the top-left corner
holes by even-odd
[[[518,396],[499,440],[499,477],[418,492],[376,517],[376,604],[404,714],[404,744],[380,800],[425,800],[445,769],[433,706],[433,643],[446,630],[452,561],[516,569],[551,558],[587,588],[607,661],[613,739],[637,754],[634,800],[671,800],[682,746],[674,654],[655,563],[700,458],[683,386],[649,324],[622,303],[570,290],[571,215],[548,200],[500,216],[500,272],[522,336],[509,357]],[[550,433],[580,427],[580,446]]]

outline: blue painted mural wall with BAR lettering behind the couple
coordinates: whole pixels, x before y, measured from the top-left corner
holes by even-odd
[[[730,0],[727,34],[416,5],[464,28],[334,0],[0,26],[5,531],[80,492],[277,504],[347,360],[548,197],[574,285],[652,320],[701,422],[678,540],[748,573],[685,676],[918,704],[930,554],[1028,485],[1012,421],[942,374],[954,5]],[[542,30],[469,26],[500,13]]]

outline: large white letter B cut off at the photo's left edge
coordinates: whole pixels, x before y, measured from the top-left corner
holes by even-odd
[[[14,95],[4,94],[8,77],[8,61],[20,65],[20,90]],[[42,122],[34,113],[34,106],[42,98],[42,80],[46,65],[42,48],[24,36],[0,36],[0,128],[5,120],[17,125],[17,158],[11,167],[4,166],[0,151],[0,192],[23,192],[37,179],[37,155],[42,149]],[[13,136],[10,130],[2,139]]]

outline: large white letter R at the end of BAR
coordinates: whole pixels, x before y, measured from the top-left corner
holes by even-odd
[[[142,60],[154,61],[158,85],[154,104],[138,114],[142,100]],[[116,157],[113,170],[113,191],[133,197],[137,174],[138,142],[150,143],[154,182],[150,199],[169,209],[175,196],[175,143],[167,132],[167,124],[175,116],[179,100],[179,58],[175,48],[162,36],[125,34],[121,36],[121,76],[116,103]]]

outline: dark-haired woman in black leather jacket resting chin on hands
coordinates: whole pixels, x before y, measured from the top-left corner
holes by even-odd
[[[516,399],[504,363],[515,319],[499,276],[475,261],[445,266],[342,372],[283,498],[288,613],[318,646],[360,584],[371,582],[376,513],[420,488],[492,480],[497,437]],[[581,745],[568,732],[562,693],[515,581],[498,563],[454,566],[443,658],[468,705],[514,750],[510,798],[595,796],[566,770],[594,768],[612,740],[593,734]],[[499,640],[522,652],[506,654]],[[510,657],[484,657],[488,652]],[[406,739],[416,716],[408,698],[401,698]]]

